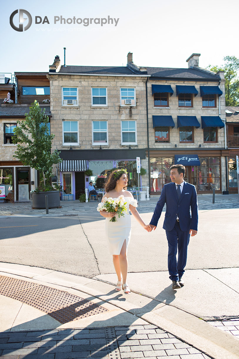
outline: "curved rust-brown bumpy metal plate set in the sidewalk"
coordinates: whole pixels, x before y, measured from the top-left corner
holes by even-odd
[[[98,304],[45,285],[0,275],[0,294],[47,313],[64,324],[108,312]]]

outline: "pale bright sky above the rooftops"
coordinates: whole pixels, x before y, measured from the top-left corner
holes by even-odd
[[[10,26],[10,15],[18,9],[32,16],[32,25],[23,32]],[[188,67],[192,53],[201,53],[200,67],[222,65],[224,56],[239,58],[238,10],[237,0],[1,0],[0,73],[48,72],[56,55],[64,64],[64,47],[66,65],[126,66],[129,51],[138,66]],[[42,21],[46,16],[49,24],[36,24],[36,16]],[[54,17],[61,16],[82,21],[109,16],[118,22],[54,24]],[[18,14],[13,22],[19,27]]]

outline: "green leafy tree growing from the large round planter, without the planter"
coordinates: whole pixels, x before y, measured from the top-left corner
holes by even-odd
[[[12,137],[13,143],[17,144],[13,157],[25,166],[41,171],[46,186],[46,178],[52,175],[52,165],[61,162],[62,159],[57,150],[51,153],[55,135],[49,133],[49,119],[45,115],[45,108],[42,111],[37,100],[31,105],[29,113],[25,113],[25,120],[17,121]]]

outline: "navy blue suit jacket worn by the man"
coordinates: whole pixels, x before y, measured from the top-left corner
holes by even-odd
[[[164,185],[150,224],[155,226],[158,224],[165,203],[166,213],[163,229],[172,230],[178,216],[182,231],[197,230],[198,206],[195,186],[184,182],[181,197],[178,200],[175,183],[171,182]]]

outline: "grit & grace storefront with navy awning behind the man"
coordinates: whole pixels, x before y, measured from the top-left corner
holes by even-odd
[[[165,183],[170,183],[170,166],[183,164],[186,167],[184,180],[195,185],[198,193],[222,192],[222,151],[198,151],[187,153],[172,151],[170,156],[163,156],[162,151],[150,152],[150,190],[152,195],[161,193]],[[154,156],[153,156],[154,154]],[[225,179],[224,179],[225,182]]]

